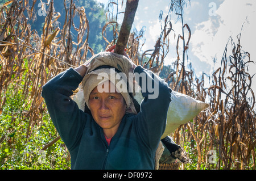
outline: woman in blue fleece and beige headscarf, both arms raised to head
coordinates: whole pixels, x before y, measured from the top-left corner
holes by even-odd
[[[115,53],[107,55],[118,57]],[[163,79],[122,56],[129,61],[135,75],[144,74],[147,78],[145,84],[140,81],[141,77],[135,77],[145,90],[142,92],[144,99],[141,110],[130,113],[127,110],[133,105],[132,95],[120,91],[118,81],[109,79],[95,86],[93,83],[98,79],[86,77],[95,57],[89,64],[69,68],[43,86],[42,96],[49,115],[71,154],[71,169],[154,169],[155,151],[165,129],[171,89]],[[82,80],[90,113],[79,110],[70,98]],[[159,94],[154,99],[149,98],[152,94],[147,87],[150,81],[158,82]]]

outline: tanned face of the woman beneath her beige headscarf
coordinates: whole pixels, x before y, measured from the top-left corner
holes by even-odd
[[[117,130],[125,115],[126,103],[120,93],[110,91],[110,84],[112,83],[108,81],[108,83],[104,82],[98,85],[101,89],[104,89],[104,86],[109,86],[109,89],[104,89],[109,91],[99,92],[98,86],[93,89],[89,96],[89,107],[93,119],[101,128]]]

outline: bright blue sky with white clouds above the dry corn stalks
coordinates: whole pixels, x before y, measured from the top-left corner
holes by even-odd
[[[109,0],[97,0],[108,3]],[[119,1],[121,4],[122,0]],[[155,42],[160,35],[159,14],[163,11],[166,17],[171,0],[139,0],[133,26],[137,30],[146,27],[144,37],[146,43],[143,50],[154,48]],[[256,1],[255,0],[191,0],[184,8],[184,23],[191,29],[191,40],[189,41],[188,60],[191,62],[196,75],[202,73],[212,75],[220,66],[221,58],[230,37],[237,41],[237,35],[241,33],[242,50],[250,53],[249,73],[256,73]],[[123,10],[125,9],[125,3]],[[121,10],[121,5],[119,6]],[[119,16],[122,23],[122,16]],[[170,36],[170,52],[165,58],[165,64],[172,64],[176,59],[177,35],[181,35],[181,21],[175,15],[171,16],[171,22],[175,31]],[[186,38],[185,34],[185,38]],[[181,43],[180,43],[181,44]],[[230,53],[230,52],[229,52]],[[213,61],[213,58],[215,62]],[[253,78],[252,89],[256,94],[256,75]]]

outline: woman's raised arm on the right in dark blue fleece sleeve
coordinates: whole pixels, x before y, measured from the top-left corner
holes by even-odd
[[[151,148],[156,148],[166,127],[172,90],[162,78],[142,66],[137,66],[134,73],[144,97],[141,103],[141,112],[137,115],[140,121],[135,123],[141,135],[147,135],[141,136],[142,140]]]

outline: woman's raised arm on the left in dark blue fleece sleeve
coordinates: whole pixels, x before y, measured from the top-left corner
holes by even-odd
[[[68,149],[81,137],[86,120],[84,112],[70,97],[81,81],[78,71],[69,68],[48,81],[42,90],[51,120]]]

